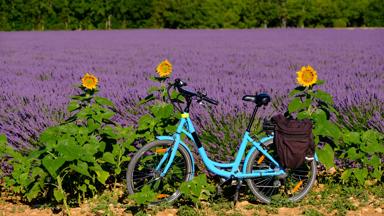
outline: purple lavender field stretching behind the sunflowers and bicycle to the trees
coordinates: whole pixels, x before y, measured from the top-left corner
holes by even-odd
[[[216,115],[234,116],[251,109],[244,94],[261,91],[277,105],[261,115],[283,110],[295,72],[310,64],[346,124],[354,115],[366,117],[367,127],[383,132],[383,51],[384,29],[0,32],[0,134],[28,146],[67,117],[74,84],[86,72],[99,77],[100,94],[116,103],[117,120],[134,124],[139,116],[128,110],[146,95],[163,59],[174,66],[172,78],[220,101]]]

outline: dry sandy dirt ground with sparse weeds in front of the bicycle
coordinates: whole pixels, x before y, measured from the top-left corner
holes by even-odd
[[[380,191],[382,188],[374,190]],[[194,215],[194,216],[256,216],[256,215],[279,215],[279,216],[296,216],[296,215],[347,215],[347,216],[384,216],[384,199],[367,192],[365,197],[360,195],[347,194],[346,196],[338,196],[336,192],[332,194],[321,195],[321,192],[326,191],[323,184],[317,184],[313,189],[313,194],[308,195],[297,205],[265,205],[258,204],[252,201],[241,201],[233,207],[228,202],[209,203],[203,202],[199,209],[188,207],[192,211],[180,210],[179,215]],[[123,190],[118,189],[117,192],[107,192],[100,196],[94,197],[85,201],[80,207],[71,208],[72,216],[102,216],[102,215],[133,215],[132,205],[128,205],[127,201],[119,201],[123,196]],[[377,193],[376,193],[377,194]],[[244,197],[245,198],[245,197]],[[26,205],[14,196],[7,196],[1,193],[0,197],[0,216],[48,216],[48,215],[65,215],[60,209],[52,209],[50,207]],[[129,203],[129,202],[128,202]],[[346,204],[347,209],[340,211],[340,206]],[[294,207],[289,207],[294,206]],[[186,206],[184,206],[186,207]],[[352,208],[351,208],[352,207]],[[180,208],[181,209],[181,208]],[[147,211],[151,216],[173,216],[177,215],[179,209],[175,207],[155,207]],[[136,211],[138,212],[138,211]],[[143,215],[143,214],[141,214]]]

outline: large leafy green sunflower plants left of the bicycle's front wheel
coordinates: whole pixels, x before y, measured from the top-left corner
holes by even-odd
[[[13,166],[11,176],[4,178],[6,186],[29,202],[45,198],[68,208],[67,202],[76,204],[99,193],[113,182],[108,180],[115,186],[130,160],[133,128],[112,121],[114,105],[96,96],[97,90],[80,88],[82,93],[68,105],[72,116],[46,129],[39,148],[22,155],[0,137],[0,157],[10,157]]]

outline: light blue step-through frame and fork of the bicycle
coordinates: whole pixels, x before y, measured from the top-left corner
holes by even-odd
[[[185,134],[190,140],[192,140],[196,144],[198,148],[198,153],[201,159],[203,160],[205,166],[208,168],[209,171],[211,171],[216,175],[222,176],[224,178],[245,179],[245,178],[255,178],[260,176],[277,176],[277,175],[285,174],[285,171],[280,166],[280,164],[261,146],[262,143],[270,139],[273,139],[273,136],[264,137],[260,140],[260,142],[256,142],[252,139],[252,137],[250,137],[249,132],[245,131],[242,142],[240,144],[240,148],[237,152],[235,161],[230,163],[219,163],[209,159],[204,147],[200,143],[200,140],[196,134],[192,120],[189,118],[189,113],[183,113],[182,118],[177,127],[176,133],[173,134],[173,136],[157,137],[157,139],[159,140],[173,140],[174,142],[173,147],[168,149],[168,151],[164,154],[163,158],[161,159],[161,161],[159,162],[156,168],[157,170],[159,170],[167,161],[168,155],[171,154],[168,162],[165,164],[165,168],[163,169],[161,176],[165,176],[165,174],[168,172],[169,168],[171,167],[179,145],[183,145],[187,149],[188,153],[191,155],[191,158],[193,160],[190,150],[185,145],[185,143],[181,140],[181,134]],[[241,160],[245,154],[245,150],[248,143],[252,143],[253,146],[248,151],[248,154],[246,155],[244,160],[242,170],[240,170]],[[260,151],[265,157],[267,157],[272,163],[275,164],[276,168],[254,170],[252,171],[252,173],[246,173],[246,167],[249,162],[249,158],[251,157],[252,153],[255,150]],[[224,170],[224,169],[229,169],[229,170]]]

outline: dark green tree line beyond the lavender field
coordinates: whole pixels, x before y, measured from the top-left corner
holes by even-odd
[[[0,0],[0,30],[380,27],[383,0]]]

